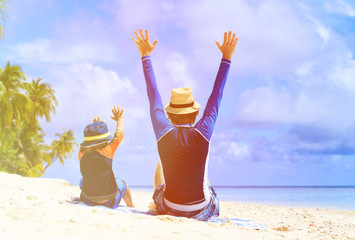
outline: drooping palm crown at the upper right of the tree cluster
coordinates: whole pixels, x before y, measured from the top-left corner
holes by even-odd
[[[32,80],[32,83],[24,83],[27,96],[32,102],[31,113],[32,119],[45,117],[46,121],[51,120],[51,113],[55,113],[55,106],[58,105],[54,90],[48,83],[41,82],[41,78]]]

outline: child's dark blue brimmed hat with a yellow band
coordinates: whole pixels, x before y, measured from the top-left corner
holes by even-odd
[[[112,136],[108,131],[107,125],[104,122],[97,121],[87,125],[84,129],[84,141],[80,144],[81,147],[89,147],[104,142],[110,142]]]

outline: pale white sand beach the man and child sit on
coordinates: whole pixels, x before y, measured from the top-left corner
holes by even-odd
[[[268,230],[171,216],[133,215],[69,203],[80,189],[65,180],[0,173],[0,239],[354,239],[355,211],[220,203],[221,217]],[[133,192],[146,209],[151,194]]]

